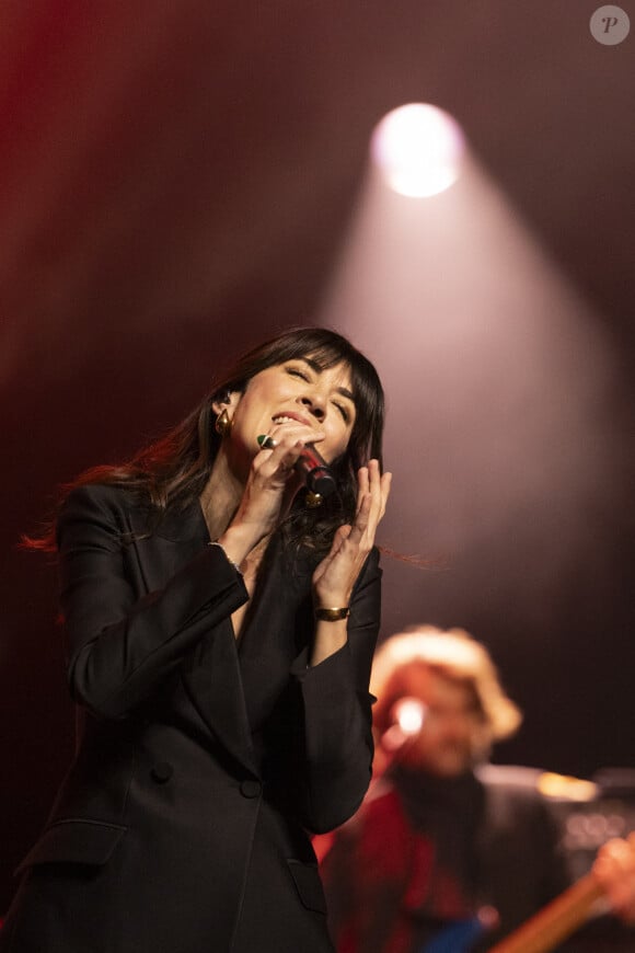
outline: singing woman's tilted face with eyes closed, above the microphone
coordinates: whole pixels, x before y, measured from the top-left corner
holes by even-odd
[[[270,434],[314,444],[331,463],[346,450],[355,423],[350,369],[338,364],[321,370],[310,357],[286,360],[255,375],[244,393],[232,393],[228,413],[235,462],[249,467],[256,438]]]

